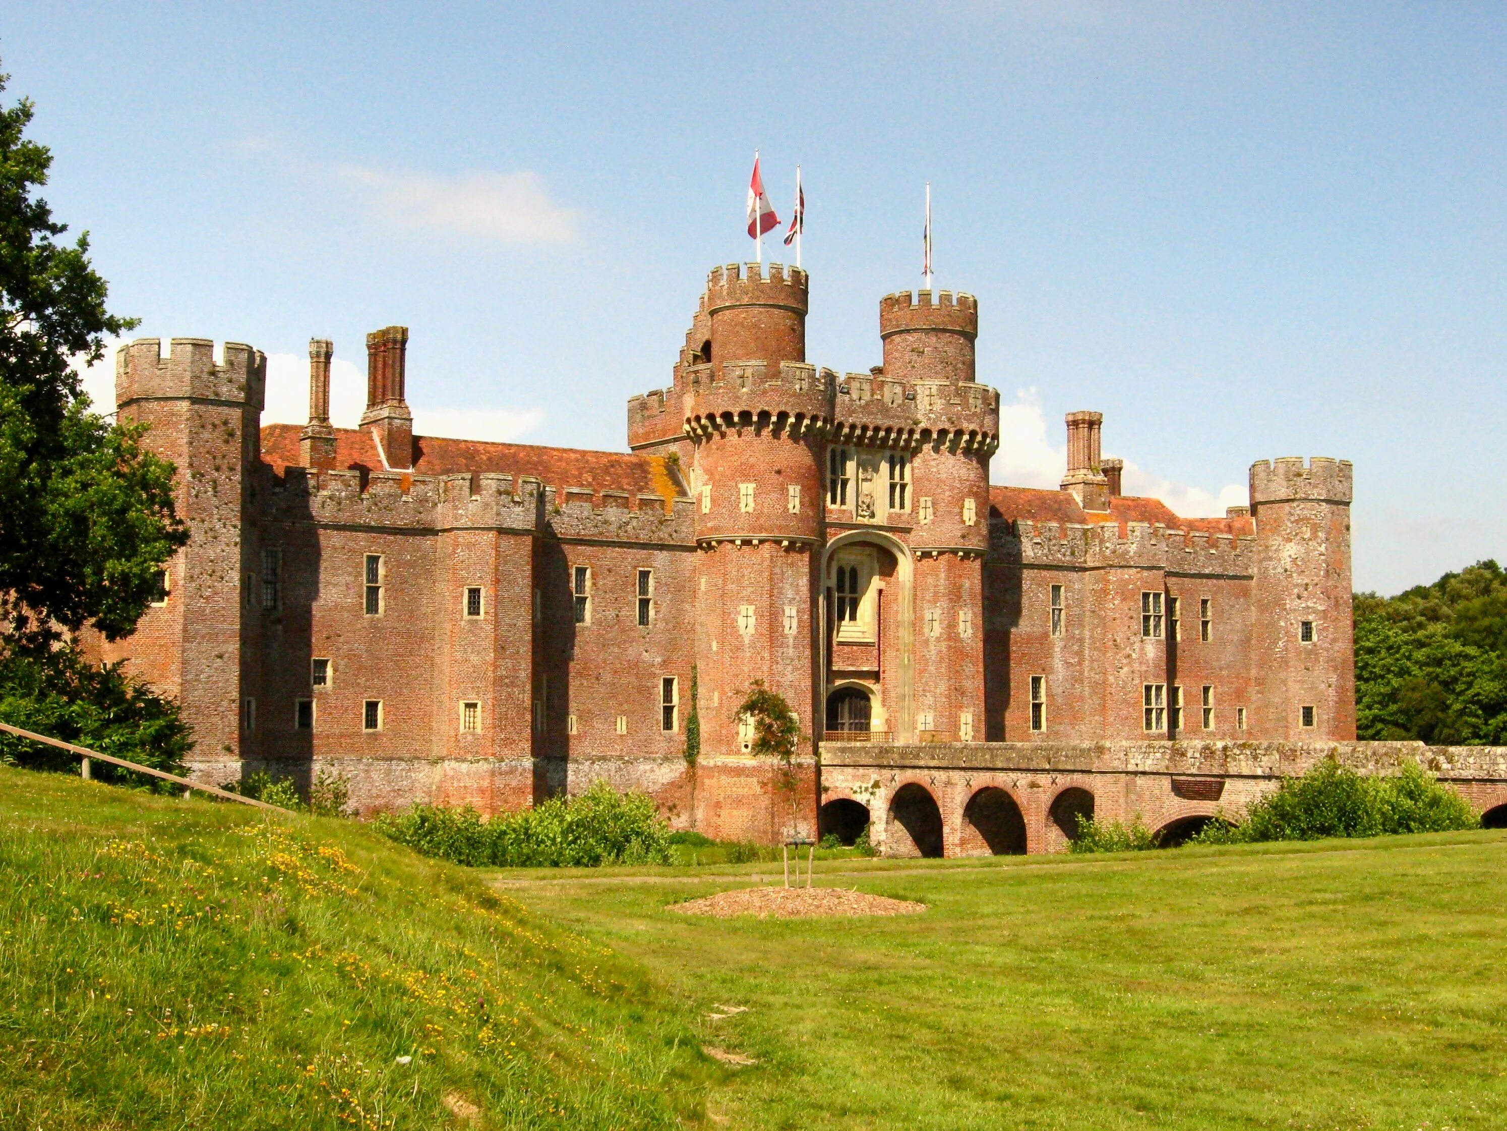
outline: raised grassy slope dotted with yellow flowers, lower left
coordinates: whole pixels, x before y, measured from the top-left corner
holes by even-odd
[[[350,822],[0,768],[0,1126],[699,1122],[637,967]]]

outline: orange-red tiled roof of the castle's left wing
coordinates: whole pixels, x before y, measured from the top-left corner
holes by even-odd
[[[262,460],[282,475],[298,466],[298,424],[262,425]],[[514,483],[532,477],[564,495],[567,487],[628,492],[630,496],[660,495],[666,501],[687,498],[680,478],[663,455],[631,455],[612,451],[543,448],[532,443],[448,440],[440,436],[413,437],[416,475],[463,475],[502,472]],[[335,466],[342,470],[381,470],[381,455],[371,433],[335,430]]]

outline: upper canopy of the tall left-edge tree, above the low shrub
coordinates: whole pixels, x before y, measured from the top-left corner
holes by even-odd
[[[0,614],[12,645],[45,644],[54,624],[115,639],[188,535],[172,463],[80,388],[75,362],[99,360],[136,321],[105,309],[89,235],[62,241],[68,226],[38,196],[53,155],[27,139],[32,113],[26,98],[0,103]]]

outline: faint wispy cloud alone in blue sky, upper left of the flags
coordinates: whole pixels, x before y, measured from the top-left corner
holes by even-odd
[[[570,243],[577,213],[550,199],[533,172],[466,172],[439,176],[407,170],[333,166],[336,176],[398,228],[475,235],[502,243]]]

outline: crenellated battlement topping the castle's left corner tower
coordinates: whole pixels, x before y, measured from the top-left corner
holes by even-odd
[[[223,360],[214,360],[214,341],[173,338],[169,354],[160,338],[137,338],[115,357],[115,400],[202,400],[244,404],[262,410],[267,357],[243,342],[226,342]]]

